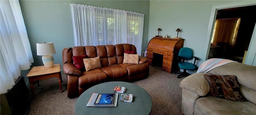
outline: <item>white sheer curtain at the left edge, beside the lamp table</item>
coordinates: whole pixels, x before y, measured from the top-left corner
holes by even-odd
[[[0,0],[0,93],[14,85],[21,70],[34,62],[20,3],[18,0]]]

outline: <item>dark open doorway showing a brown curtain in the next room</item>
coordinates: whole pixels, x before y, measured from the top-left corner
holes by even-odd
[[[256,23],[252,11],[256,11],[256,5],[217,11],[207,59],[224,58],[243,62]]]

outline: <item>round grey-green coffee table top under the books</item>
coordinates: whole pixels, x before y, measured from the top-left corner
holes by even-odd
[[[86,107],[92,93],[114,93],[115,86],[126,87],[124,94],[132,94],[134,102],[120,102],[120,95],[123,93],[118,93],[116,107]],[[75,113],[76,115],[149,115],[151,108],[151,97],[143,88],[133,83],[111,81],[100,83],[84,91],[76,101]]]

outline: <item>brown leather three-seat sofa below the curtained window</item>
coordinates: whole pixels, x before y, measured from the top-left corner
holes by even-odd
[[[62,51],[63,71],[67,75],[68,97],[77,97],[86,89],[107,81],[134,82],[149,74],[146,57],[139,57],[139,64],[123,63],[124,51],[135,51],[132,44],[75,46]],[[101,67],[81,71],[73,64],[72,56],[100,57]]]

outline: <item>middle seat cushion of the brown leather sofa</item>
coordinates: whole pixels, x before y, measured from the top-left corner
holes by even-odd
[[[101,67],[101,69],[110,77],[111,79],[124,77],[128,75],[128,71],[126,68],[120,65],[109,65]]]

